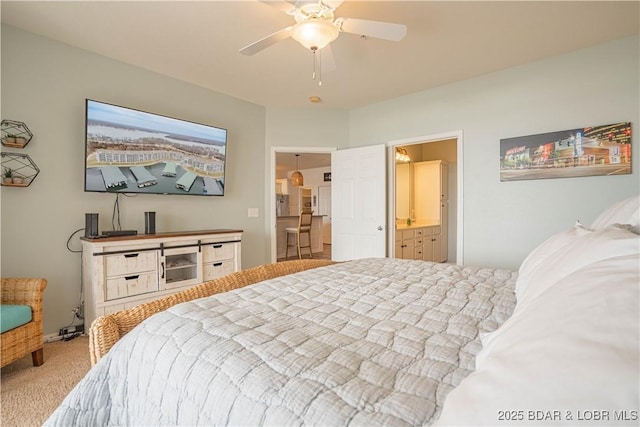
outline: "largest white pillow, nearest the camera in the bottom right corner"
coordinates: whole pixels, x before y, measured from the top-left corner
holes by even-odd
[[[435,425],[637,426],[639,298],[637,253],[561,279],[491,334]]]

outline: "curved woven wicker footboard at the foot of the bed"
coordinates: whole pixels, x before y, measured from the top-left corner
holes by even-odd
[[[176,304],[330,264],[333,264],[333,261],[303,259],[259,265],[202,283],[156,301],[101,316],[93,321],[89,329],[91,365],[95,365],[123,335],[135,328],[140,322]]]

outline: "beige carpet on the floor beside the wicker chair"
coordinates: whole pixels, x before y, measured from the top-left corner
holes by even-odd
[[[31,355],[0,370],[2,427],[41,426],[87,373],[89,338],[44,345],[44,364],[34,367]]]

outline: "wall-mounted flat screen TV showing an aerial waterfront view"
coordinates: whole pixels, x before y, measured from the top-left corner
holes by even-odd
[[[227,130],[86,100],[85,191],[223,196]]]

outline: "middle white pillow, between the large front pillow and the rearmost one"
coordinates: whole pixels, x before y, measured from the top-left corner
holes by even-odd
[[[514,315],[563,277],[607,258],[638,254],[639,245],[638,235],[620,225],[597,231],[576,226],[553,236],[520,266]]]

